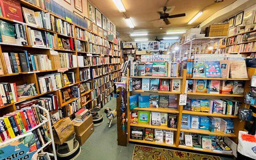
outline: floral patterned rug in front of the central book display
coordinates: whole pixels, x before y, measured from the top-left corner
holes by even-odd
[[[135,145],[132,160],[221,160],[217,156]]]

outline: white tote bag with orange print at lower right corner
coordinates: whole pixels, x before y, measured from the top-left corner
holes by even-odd
[[[237,151],[244,156],[256,159],[256,135],[239,131]]]

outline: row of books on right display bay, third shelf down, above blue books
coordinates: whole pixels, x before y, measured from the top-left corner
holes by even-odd
[[[235,99],[187,99],[183,110],[207,113],[238,115],[242,102]]]

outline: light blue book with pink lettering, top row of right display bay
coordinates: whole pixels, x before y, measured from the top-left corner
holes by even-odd
[[[220,61],[205,61],[205,77],[221,77]]]

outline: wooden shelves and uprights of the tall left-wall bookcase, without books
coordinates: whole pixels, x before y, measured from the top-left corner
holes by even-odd
[[[40,8],[40,7],[38,7],[34,4],[31,4],[31,3],[29,3],[25,0],[19,0],[19,2],[21,3],[22,7],[26,7],[28,9],[33,10],[33,11],[49,12],[49,11],[47,11],[45,9],[42,9],[42,8]],[[51,12],[49,12],[49,13],[50,13],[50,15],[52,15],[52,16],[58,18],[58,19],[61,19],[62,21],[66,22],[66,23],[69,23],[72,26],[74,36],[63,35],[61,33],[58,33],[58,32],[55,32],[55,31],[52,31],[52,30],[49,30],[49,29],[44,29],[44,28],[41,28],[41,27],[29,25],[29,24],[24,23],[24,22],[19,22],[19,21],[13,20],[13,19],[9,19],[9,18],[0,16],[0,20],[2,20],[2,21],[9,22],[11,24],[23,24],[23,25],[25,25],[27,42],[28,42],[28,45],[19,45],[19,44],[0,42],[0,59],[1,59],[1,62],[2,62],[2,67],[3,67],[2,69],[4,71],[4,74],[0,75],[0,82],[16,83],[16,85],[35,83],[35,88],[36,88],[36,91],[37,91],[37,95],[35,95],[35,96],[30,96],[30,97],[26,97],[26,98],[23,98],[23,99],[19,99],[17,102],[1,106],[0,107],[0,116],[3,116],[3,115],[8,114],[10,112],[16,111],[17,110],[16,109],[16,104],[19,104],[19,103],[25,102],[25,101],[29,101],[29,100],[32,100],[32,99],[36,99],[36,98],[39,98],[40,96],[43,96],[43,95],[46,95],[46,94],[54,94],[54,95],[58,96],[58,109],[63,108],[63,107],[67,108],[68,104],[70,104],[71,102],[73,102],[75,100],[78,100],[82,96],[86,96],[86,95],[87,95],[87,97],[89,97],[89,99],[87,99],[87,101],[85,103],[82,103],[82,101],[80,101],[81,102],[81,108],[83,108],[86,104],[89,105],[90,109],[92,109],[94,107],[97,107],[97,106],[102,106],[103,107],[107,102],[109,102],[111,100],[111,97],[114,94],[113,93],[114,92],[114,81],[119,81],[120,76],[121,76],[121,73],[120,73],[120,66],[121,66],[121,64],[120,64],[120,58],[121,58],[120,43],[119,44],[114,43],[113,41],[108,40],[108,37],[100,36],[96,33],[93,33],[92,31],[90,31],[86,28],[83,28],[81,26],[78,26],[78,25],[76,25],[76,24],[74,24],[74,23],[72,23],[72,22],[70,22],[70,21],[68,21],[68,20],[66,20],[66,19],[64,19],[60,16],[57,16],[57,15],[51,13]],[[72,38],[74,40],[74,42],[76,42],[76,40],[84,41],[85,44],[86,44],[86,51],[84,51],[84,52],[77,51],[77,43],[74,43],[75,44],[74,50],[60,49],[58,46],[57,46],[57,48],[47,48],[47,47],[33,46],[32,44],[30,44],[31,42],[30,42],[30,39],[29,39],[28,28],[38,30],[38,31],[50,32],[51,34],[53,34],[57,38],[67,38],[67,39]],[[77,38],[76,30],[75,30],[76,28],[80,28],[83,31],[88,31],[89,33],[92,33],[94,36],[97,36],[97,37],[100,37],[100,38],[104,39],[104,41],[105,41],[104,44],[96,44],[96,43],[93,43],[93,44],[103,47],[106,50],[105,54],[89,52],[89,44],[92,44],[92,42]],[[5,66],[5,60],[4,60],[4,57],[3,57],[3,52],[15,52],[15,51],[22,51],[22,50],[26,50],[30,54],[44,54],[44,55],[47,55],[48,59],[51,59],[52,70],[39,70],[39,71],[32,71],[32,72],[19,72],[19,73],[8,74],[7,67]],[[54,53],[54,51],[55,51],[55,53]],[[88,56],[88,54],[91,54],[92,56],[96,55],[96,56],[100,56],[100,57],[109,57],[109,58],[113,58],[113,59],[115,58],[115,59],[119,59],[119,61],[112,62],[111,64],[107,64],[107,63],[97,64],[95,66],[84,66],[84,67],[74,67],[74,68],[55,68],[54,64],[56,62],[54,61],[54,55],[56,54],[56,51],[58,53],[72,53],[76,57],[79,56],[79,55],[80,56]],[[76,64],[78,64],[78,58],[76,58]],[[87,69],[96,68],[97,69],[97,68],[102,68],[102,67],[107,68],[106,73],[104,75],[103,74],[98,75],[97,77],[94,77],[94,78],[103,77],[105,75],[109,76],[109,81],[107,83],[111,84],[111,85],[109,85],[108,87],[105,86],[106,83],[102,84],[101,86],[94,87],[94,85],[93,85],[94,78],[80,81],[80,77],[79,77],[80,76],[79,75],[79,70],[80,69],[83,69],[83,68],[87,68]],[[112,68],[112,69],[110,70],[110,68]],[[39,86],[37,77],[44,76],[44,75],[50,74],[50,73],[56,73],[56,72],[59,72],[61,74],[62,82],[64,82],[63,81],[63,73],[65,73],[65,72],[74,72],[76,82],[71,83],[69,85],[62,84],[62,86],[63,86],[62,88],[52,90],[52,91],[49,91],[49,92],[46,92],[46,93],[40,93],[39,92],[39,89],[40,89],[39,87],[40,86]],[[91,81],[92,82],[91,83],[92,88],[90,88],[90,90],[85,91],[83,93],[80,93],[79,97],[72,97],[70,100],[68,100],[64,103],[62,102],[62,93],[61,93],[62,90],[70,88],[74,85],[76,85],[76,86],[81,85],[81,83],[85,82],[85,81]],[[93,96],[93,95],[95,95],[94,92],[97,88],[100,90],[100,92],[98,92],[99,94],[97,96]],[[54,110],[54,111],[51,111],[49,114],[51,115],[52,113],[54,113],[56,111],[58,112],[58,110]],[[75,113],[72,113],[69,116],[74,116],[74,114]],[[68,117],[67,109],[66,109],[66,115]],[[49,116],[49,118],[50,118],[50,116]],[[51,126],[55,126],[58,123],[60,123],[64,118],[65,117],[63,117],[62,119],[60,119],[59,121],[57,121],[53,125],[49,125],[50,128],[51,128]]]

